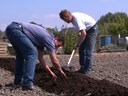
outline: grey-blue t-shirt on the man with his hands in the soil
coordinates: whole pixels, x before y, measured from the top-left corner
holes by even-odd
[[[55,51],[54,35],[49,33],[45,28],[31,24],[31,23],[20,23],[23,27],[24,33],[38,48],[44,48],[48,51]]]

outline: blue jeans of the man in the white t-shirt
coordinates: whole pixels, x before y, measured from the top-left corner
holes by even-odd
[[[86,38],[79,47],[79,63],[81,67],[80,70],[89,72],[91,71],[93,63],[93,51],[98,34],[98,26],[95,25],[86,32]]]

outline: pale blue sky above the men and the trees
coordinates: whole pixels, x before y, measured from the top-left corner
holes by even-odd
[[[70,27],[59,18],[62,9],[84,12],[96,21],[108,12],[128,14],[128,0],[1,0],[0,30],[12,22],[35,22],[44,27]]]

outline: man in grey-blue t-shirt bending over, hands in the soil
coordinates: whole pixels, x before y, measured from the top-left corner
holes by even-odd
[[[14,85],[21,85],[23,89],[27,90],[34,89],[33,77],[37,56],[46,71],[53,78],[57,78],[43,58],[44,47],[49,52],[53,65],[66,78],[55,54],[55,49],[64,43],[62,38],[54,37],[53,34],[41,26],[17,22],[8,25],[6,35],[16,51]]]

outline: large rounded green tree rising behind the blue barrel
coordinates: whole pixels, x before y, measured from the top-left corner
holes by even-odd
[[[128,16],[123,12],[107,13],[98,20],[100,35],[128,35]]]

